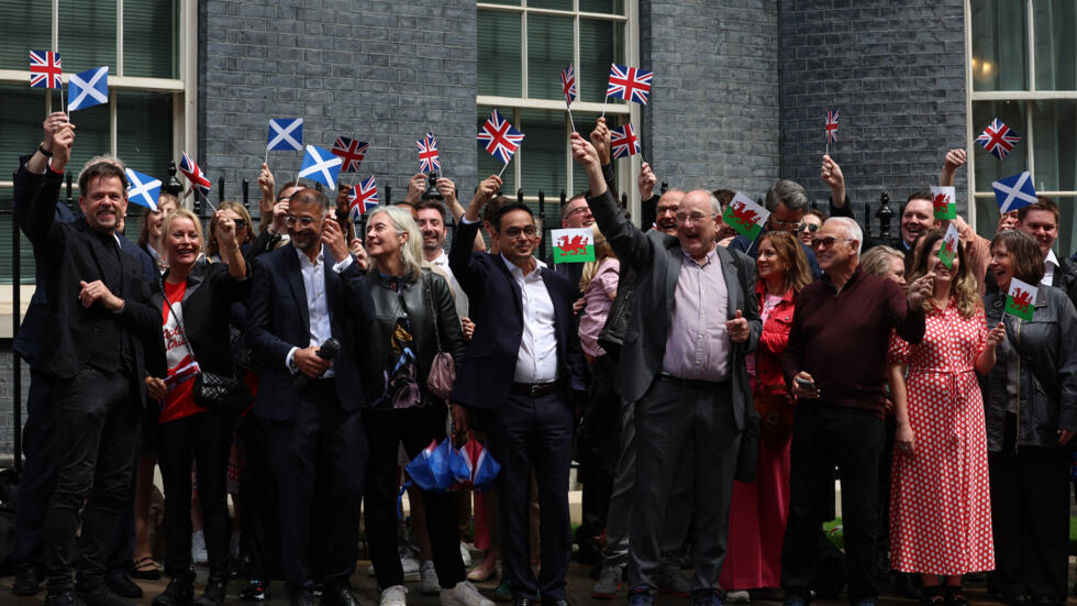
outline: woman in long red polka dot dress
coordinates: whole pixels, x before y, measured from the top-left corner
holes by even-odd
[[[911,279],[929,268],[935,274],[923,342],[890,337],[898,423],[890,562],[923,576],[925,604],[963,606],[961,575],[995,569],[984,400],[974,370],[986,374],[995,366],[1001,335],[987,331],[964,246],[951,268],[940,261],[943,236],[928,232],[913,263]]]

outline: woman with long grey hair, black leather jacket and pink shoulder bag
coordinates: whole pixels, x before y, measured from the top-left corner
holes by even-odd
[[[384,207],[367,219],[366,276],[377,321],[359,327],[368,363],[364,387],[373,394],[364,410],[370,456],[367,462],[367,542],[382,606],[403,606],[403,571],[397,554],[397,444],[410,459],[431,441],[445,439],[446,403],[426,387],[440,346],[455,361],[464,356],[464,335],[448,285],[422,269],[422,236],[411,213]],[[435,334],[436,331],[436,334]],[[449,493],[423,492],[426,530],[443,605],[492,606],[465,580],[456,506]]]

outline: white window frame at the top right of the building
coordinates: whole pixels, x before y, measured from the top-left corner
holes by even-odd
[[[1035,45],[1035,20],[1032,2],[1034,0],[1024,0],[1025,7],[1025,23],[1028,35],[1025,36],[1025,42],[1028,44],[1028,57],[1029,57],[1029,89],[1028,90],[991,90],[991,91],[976,91],[973,90],[975,85],[973,84],[973,5],[971,0],[965,0],[965,139],[968,141],[968,157],[966,158],[968,170],[967,179],[967,199],[968,203],[968,217],[973,225],[973,229],[978,229],[977,223],[978,218],[976,216],[976,200],[977,199],[993,199],[993,191],[976,191],[976,154],[974,147],[978,145],[976,143],[976,137],[979,135],[978,129],[981,129],[982,124],[973,123],[973,104],[977,101],[1020,101],[1025,104],[1025,124],[1024,134],[1021,139],[1021,145],[1026,145],[1029,150],[1029,165],[1028,170],[1033,176],[1036,174],[1036,161],[1035,161],[1035,132],[1032,128],[1032,103],[1034,101],[1057,101],[1057,100],[1077,100],[1077,90],[1036,90],[1036,45]],[[1048,196],[1051,198],[1073,198],[1077,197],[1077,190],[1066,190],[1066,189],[1054,189],[1040,191],[1036,194],[1041,196]],[[993,218],[992,218],[993,219]]]

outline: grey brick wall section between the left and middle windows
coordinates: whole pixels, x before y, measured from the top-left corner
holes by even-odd
[[[475,3],[346,0],[200,3],[199,156],[214,184],[254,181],[269,118],[302,117],[304,144],[370,143],[358,175],[402,199],[419,168],[415,140],[434,128],[445,176],[474,186]],[[301,152],[270,152],[291,179]],[[464,184],[462,185],[462,189]]]

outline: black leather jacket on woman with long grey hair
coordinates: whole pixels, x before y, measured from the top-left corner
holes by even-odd
[[[456,316],[456,306],[448,284],[445,283],[445,278],[430,269],[423,269],[421,280],[409,284],[400,291],[387,288],[378,279],[377,272],[368,273],[364,279],[374,298],[377,317],[373,324],[358,327],[358,351],[365,360],[359,365],[359,374],[367,395],[367,406],[373,406],[385,394],[389,335],[397,326],[397,319],[406,315],[411,318],[411,335],[419,360],[415,378],[424,400],[426,398],[433,400],[433,396],[426,388],[426,375],[430,373],[434,355],[437,354],[437,344],[434,341],[434,317],[430,312],[428,301],[433,301],[437,307],[437,330],[442,349],[453,354],[457,370],[464,359],[464,333],[460,330],[460,321]],[[423,291],[424,285],[430,290],[429,295]]]

